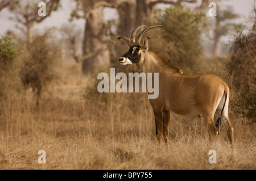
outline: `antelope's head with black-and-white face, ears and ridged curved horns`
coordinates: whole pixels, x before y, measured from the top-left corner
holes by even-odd
[[[142,62],[144,60],[144,55],[148,50],[148,40],[150,38],[146,36],[144,38],[143,45],[140,44],[141,39],[142,39],[144,33],[146,33],[148,30],[155,28],[155,27],[159,27],[159,26],[162,26],[162,25],[150,26],[150,27],[145,28],[143,31],[141,31],[139,33],[139,35],[137,36],[136,39],[135,39],[136,32],[140,28],[145,27],[145,26],[139,26],[139,27],[135,28],[133,30],[133,32],[131,33],[131,38],[126,37],[126,36],[118,37],[118,40],[123,40],[125,42],[125,44],[129,46],[128,52],[126,52],[125,54],[123,54],[122,57],[119,58],[119,63],[121,65],[127,65],[127,64],[139,64],[140,62]]]

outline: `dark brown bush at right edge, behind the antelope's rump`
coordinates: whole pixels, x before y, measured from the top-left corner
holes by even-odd
[[[255,17],[254,17],[255,20]],[[245,33],[246,27],[236,27],[227,68],[232,76],[234,111],[256,121],[256,27]]]

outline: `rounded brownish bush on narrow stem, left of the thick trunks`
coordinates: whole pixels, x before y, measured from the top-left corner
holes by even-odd
[[[38,106],[44,87],[57,77],[56,66],[61,57],[59,45],[48,31],[44,35],[34,37],[33,42],[27,45],[24,57],[20,76],[24,86],[32,87],[36,93]]]

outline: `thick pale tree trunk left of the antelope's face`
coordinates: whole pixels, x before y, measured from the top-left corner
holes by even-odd
[[[84,73],[93,73],[101,65],[109,64],[110,52],[108,49],[108,30],[104,22],[104,8],[114,7],[114,1],[81,1],[76,0],[76,9],[73,18],[85,19],[84,39],[82,42],[82,70]]]

